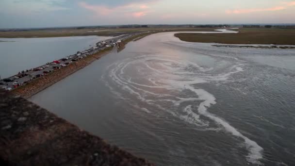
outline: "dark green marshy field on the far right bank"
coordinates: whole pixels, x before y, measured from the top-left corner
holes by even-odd
[[[295,29],[241,28],[239,33],[177,33],[188,42],[295,45]]]

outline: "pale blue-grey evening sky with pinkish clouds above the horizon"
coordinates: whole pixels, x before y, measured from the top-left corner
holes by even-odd
[[[295,0],[0,0],[0,28],[295,23]]]

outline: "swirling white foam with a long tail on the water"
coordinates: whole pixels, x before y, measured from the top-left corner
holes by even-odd
[[[262,147],[260,147],[255,141],[240,133],[226,120],[208,112],[208,108],[216,104],[215,97],[204,89],[194,87],[194,85],[199,83],[222,82],[228,80],[232,74],[243,71],[244,65],[242,64],[242,61],[236,58],[233,59],[238,63],[229,67],[227,72],[212,75],[207,73],[208,71],[213,70],[212,67],[204,68],[198,66],[196,63],[176,59],[171,56],[144,55],[126,59],[123,62],[114,64],[113,68],[109,67],[109,76],[123,90],[130,94],[134,94],[139,100],[156,106],[187,123],[205,128],[204,130],[213,130],[209,126],[210,121],[200,118],[200,116],[208,117],[228,133],[243,139],[246,148],[249,150],[247,160],[253,164],[261,164],[259,160],[262,159]],[[129,67],[134,68],[136,65],[146,67],[145,72],[149,73],[148,78],[142,79],[146,79],[148,84],[137,83],[136,78],[132,78],[138,77],[136,74],[134,76],[134,73],[128,75],[127,70],[130,69]],[[196,71],[185,71],[185,68],[188,66],[194,67]],[[139,76],[140,75],[142,75],[142,73],[139,73]],[[153,91],[151,91],[151,89]],[[180,98],[178,94],[183,90],[190,90],[197,97]],[[169,98],[167,99],[167,97]],[[182,103],[184,102],[192,103],[194,101],[199,103],[196,111],[193,110],[192,104],[186,105],[185,108],[182,109],[182,112],[178,112],[177,110],[179,109],[169,110],[161,106],[161,103],[163,102],[171,102],[174,107],[179,108],[183,107]],[[141,108],[141,110],[149,114],[151,113],[147,108]]]

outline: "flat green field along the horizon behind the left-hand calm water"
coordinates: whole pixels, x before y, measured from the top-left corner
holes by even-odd
[[[213,31],[213,28],[89,28],[89,29],[48,29],[21,32],[0,32],[2,38],[31,38],[31,37],[65,37],[65,36],[117,36],[135,32],[163,31]]]

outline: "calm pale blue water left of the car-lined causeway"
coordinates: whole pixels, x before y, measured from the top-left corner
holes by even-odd
[[[90,45],[109,38],[111,37],[0,38],[0,41],[5,41],[0,42],[0,76],[13,76],[19,71],[86,50]]]

